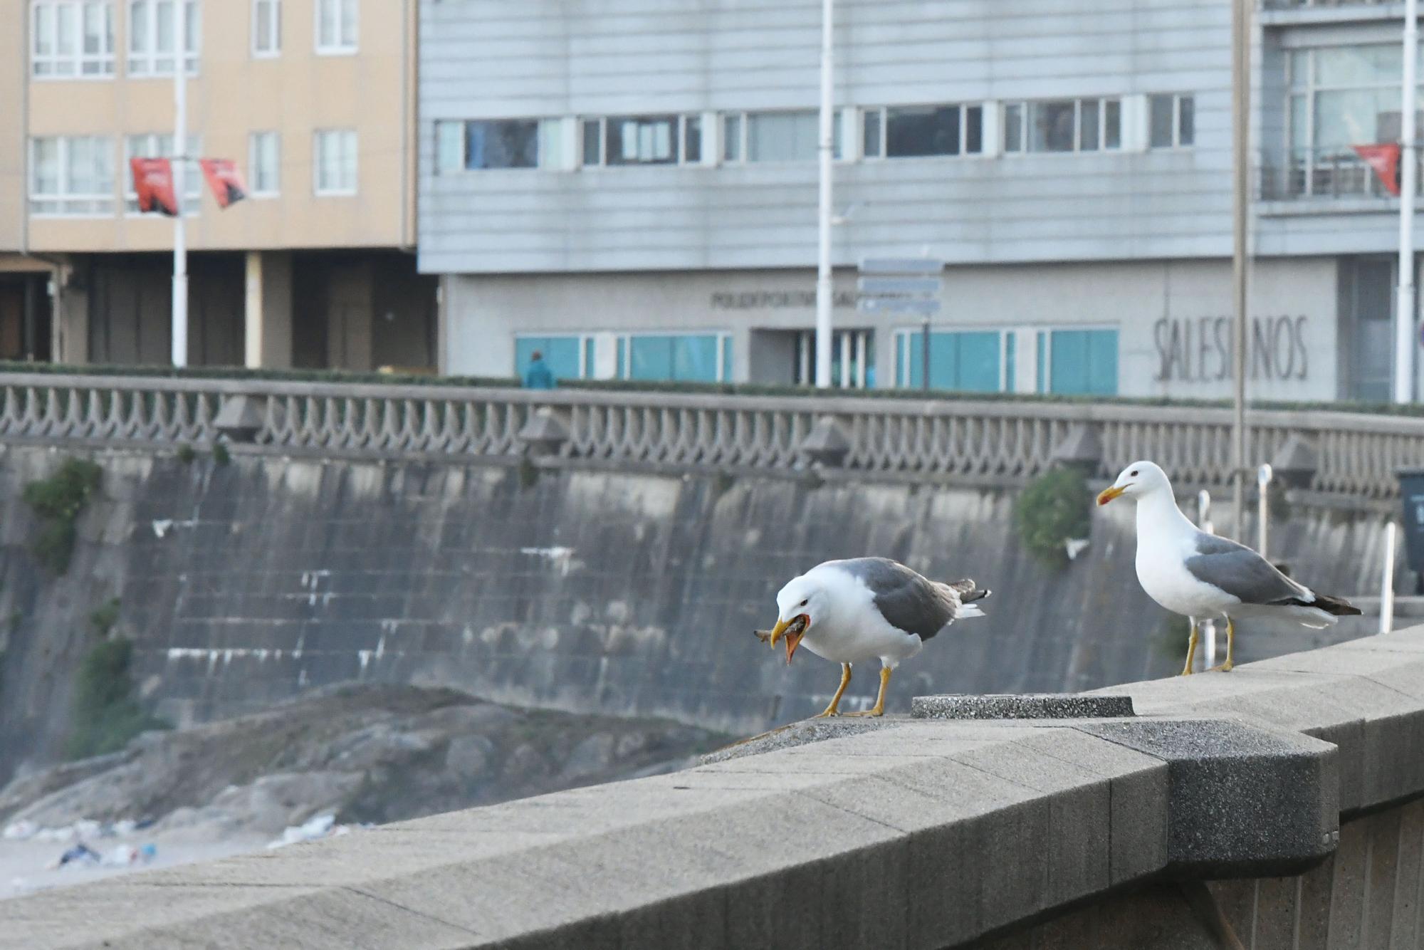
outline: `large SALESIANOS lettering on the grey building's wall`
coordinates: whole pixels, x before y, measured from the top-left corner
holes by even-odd
[[[1257,316],[1246,342],[1250,379],[1309,379],[1306,316]],[[1210,383],[1232,377],[1232,318],[1162,318],[1152,325],[1156,382]]]

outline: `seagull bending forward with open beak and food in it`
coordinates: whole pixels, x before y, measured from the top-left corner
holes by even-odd
[[[840,688],[824,712],[840,715],[840,696],[850,684],[850,665],[880,658],[876,705],[849,715],[879,716],[886,711],[890,671],[920,652],[924,641],[963,617],[983,617],[974,601],[990,595],[971,580],[938,584],[884,557],[857,557],[817,564],[776,595],[778,618],[770,632],[756,635],[772,647],[786,638],[786,662],[796,648],[840,664]]]

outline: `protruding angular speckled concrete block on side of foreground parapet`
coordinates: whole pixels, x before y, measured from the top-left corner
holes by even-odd
[[[1176,875],[1299,872],[1334,847],[1334,746],[1210,719],[1121,721],[1081,731],[1168,763]]]

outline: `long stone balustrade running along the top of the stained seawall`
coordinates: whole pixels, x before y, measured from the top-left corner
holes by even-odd
[[[852,471],[998,481],[1045,470],[1087,429],[1101,479],[1135,459],[1158,460],[1183,484],[1223,486],[1232,470],[1226,409],[0,376],[0,440],[201,444],[218,439],[219,413],[258,446],[300,454],[467,460],[537,446],[605,464],[785,471],[805,464],[812,446],[830,446]],[[1424,466],[1424,419],[1253,410],[1247,420],[1249,459],[1306,440],[1320,491],[1393,497],[1396,467]]]

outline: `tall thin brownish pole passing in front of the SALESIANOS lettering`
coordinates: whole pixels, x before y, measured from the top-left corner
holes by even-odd
[[[1232,0],[1232,285],[1236,333],[1232,348],[1236,414],[1232,429],[1232,489],[1236,530],[1242,538],[1246,499],[1246,212],[1250,199],[1250,14],[1246,0]]]

